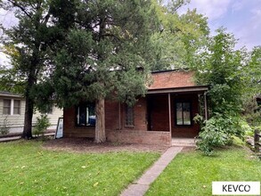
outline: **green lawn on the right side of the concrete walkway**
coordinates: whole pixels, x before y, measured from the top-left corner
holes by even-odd
[[[146,195],[211,195],[212,181],[261,181],[261,161],[232,146],[206,157],[200,151],[179,153]]]

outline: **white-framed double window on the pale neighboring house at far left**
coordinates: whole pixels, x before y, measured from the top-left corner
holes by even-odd
[[[3,114],[20,115],[20,100],[4,99]]]

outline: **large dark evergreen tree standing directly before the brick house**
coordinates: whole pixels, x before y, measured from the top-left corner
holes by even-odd
[[[75,26],[53,57],[49,86],[60,107],[95,102],[95,142],[101,143],[104,99],[133,104],[145,93],[157,18],[151,1],[143,0],[78,1],[73,15]]]

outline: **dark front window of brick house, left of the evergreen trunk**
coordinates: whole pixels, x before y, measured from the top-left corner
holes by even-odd
[[[87,127],[95,126],[95,104],[94,103],[81,103],[77,107],[77,126]]]

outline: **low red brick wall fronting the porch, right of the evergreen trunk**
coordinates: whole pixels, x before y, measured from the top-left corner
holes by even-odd
[[[169,132],[140,131],[140,130],[106,130],[110,142],[118,143],[147,143],[164,146],[171,145]]]

